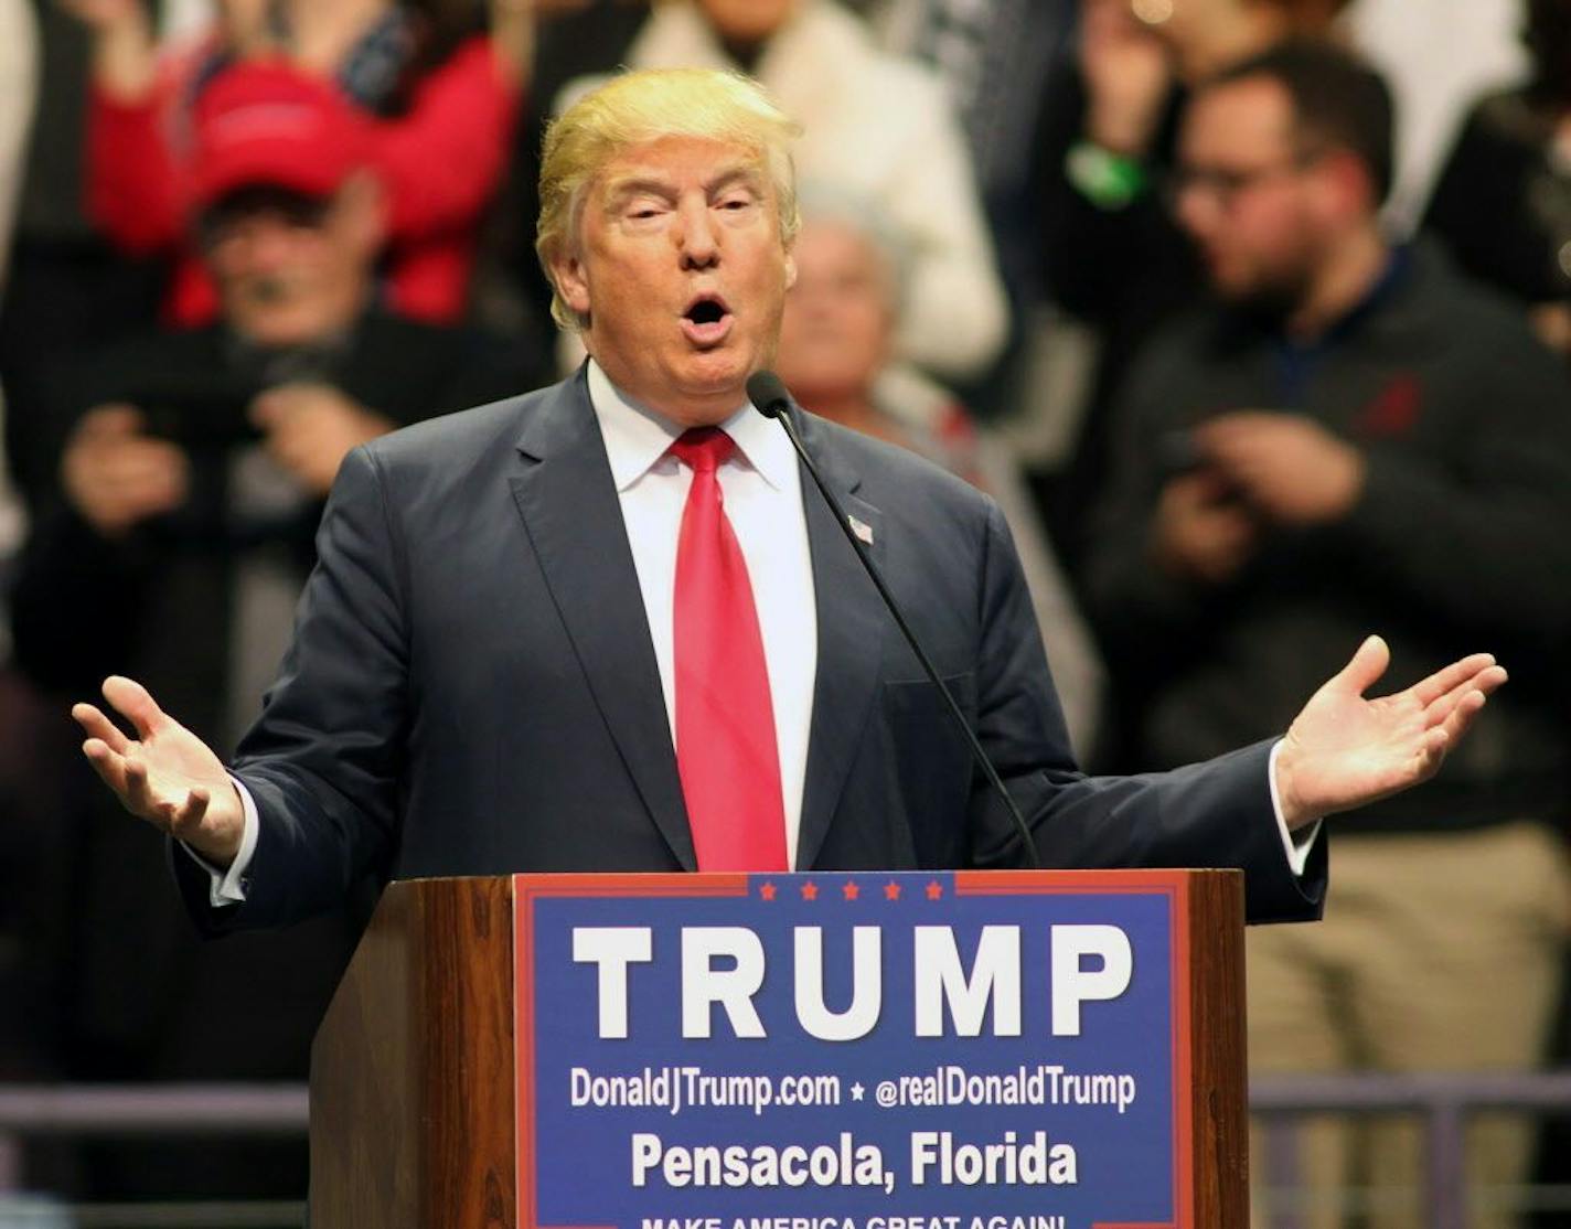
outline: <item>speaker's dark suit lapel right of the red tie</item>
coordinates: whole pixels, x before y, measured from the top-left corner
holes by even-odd
[[[881,515],[855,492],[861,476],[848,459],[829,446],[823,424],[793,409],[803,443],[823,471],[847,514],[872,530],[870,555],[883,555]],[[834,514],[812,482],[801,475],[807,545],[812,553],[812,586],[818,614],[818,677],[812,696],[812,731],[807,739],[807,781],[796,833],[796,866],[809,869],[823,847],[829,820],[845,791],[862,729],[878,693],[883,635],[888,624],[878,591],[851,555]]]

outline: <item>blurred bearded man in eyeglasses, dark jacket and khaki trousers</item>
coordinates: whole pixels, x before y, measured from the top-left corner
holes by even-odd
[[[1170,200],[1218,305],[1130,372],[1090,553],[1142,764],[1273,729],[1356,627],[1389,627],[1404,676],[1477,637],[1530,663],[1428,794],[1340,828],[1324,926],[1251,935],[1255,1070],[1532,1066],[1558,985],[1571,388],[1516,313],[1387,240],[1390,129],[1379,77],[1324,46],[1196,93]],[[1521,1174],[1519,1128],[1470,1143],[1475,1180]],[[1400,1130],[1307,1147],[1318,1191],[1354,1155],[1420,1185]]]

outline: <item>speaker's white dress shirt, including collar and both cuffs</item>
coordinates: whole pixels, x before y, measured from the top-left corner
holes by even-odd
[[[672,624],[677,539],[693,473],[668,451],[682,429],[616,388],[592,358],[589,402],[600,423],[606,459],[611,462],[611,478],[622,504],[622,522],[644,599],[674,745]],[[759,613],[764,662],[775,709],[775,739],[781,758],[786,852],[795,866],[801,797],[807,776],[812,692],[818,673],[818,619],[807,522],[801,503],[801,471],[786,432],[751,404],[743,404],[721,423],[721,429],[737,443],[737,451],[720,467],[720,489],[731,528],[748,563],[753,603]],[[1302,874],[1320,824],[1310,825],[1301,839],[1295,839],[1288,831],[1277,797],[1279,750],[1280,743],[1271,753],[1271,805],[1293,872]],[[196,858],[212,874],[211,901],[215,907],[245,899],[242,880],[256,852],[261,827],[251,792],[239,780],[236,786],[245,811],[240,852],[228,871],[218,871]]]

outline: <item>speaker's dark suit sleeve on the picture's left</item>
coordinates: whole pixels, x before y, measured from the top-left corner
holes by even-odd
[[[176,858],[204,930],[280,926],[386,875],[408,725],[401,553],[374,456],[344,460],[317,533],[295,637],[234,775],[261,833],[240,905],[214,910],[209,877]]]

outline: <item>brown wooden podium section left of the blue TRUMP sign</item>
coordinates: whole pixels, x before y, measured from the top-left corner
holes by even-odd
[[[311,1047],[313,1229],[512,1226],[512,880],[391,883]]]

